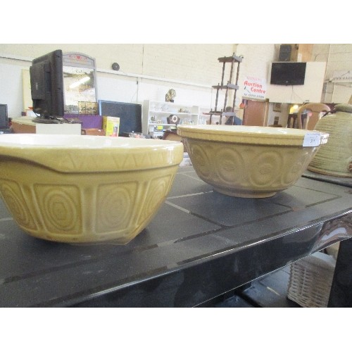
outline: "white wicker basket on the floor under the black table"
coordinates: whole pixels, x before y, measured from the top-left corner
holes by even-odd
[[[327,307],[336,260],[325,253],[291,265],[287,298],[302,307]]]

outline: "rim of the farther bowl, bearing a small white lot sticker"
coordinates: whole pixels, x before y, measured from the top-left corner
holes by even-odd
[[[317,130],[287,127],[244,125],[179,125],[177,134],[183,138],[239,144],[303,146],[305,137],[313,135],[318,145],[325,144],[329,134]]]

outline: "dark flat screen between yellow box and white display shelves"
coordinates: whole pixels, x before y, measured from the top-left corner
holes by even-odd
[[[141,104],[99,100],[99,115],[120,118],[120,137],[128,137],[131,132],[142,133]]]

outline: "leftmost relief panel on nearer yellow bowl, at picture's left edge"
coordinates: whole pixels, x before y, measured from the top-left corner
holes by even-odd
[[[0,187],[4,202],[18,225],[27,230],[37,230],[20,186],[14,181],[0,180]]]

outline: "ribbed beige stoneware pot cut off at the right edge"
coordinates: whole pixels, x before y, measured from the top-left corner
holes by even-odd
[[[329,142],[321,146],[308,170],[323,175],[352,177],[352,105],[338,104],[314,128],[328,132]]]

